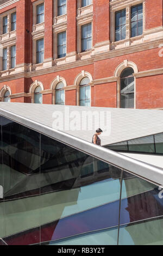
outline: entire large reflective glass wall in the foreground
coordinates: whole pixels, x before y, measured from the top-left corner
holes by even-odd
[[[4,117],[0,136],[0,245],[163,245],[157,186]]]

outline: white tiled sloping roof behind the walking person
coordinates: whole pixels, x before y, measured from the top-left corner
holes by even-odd
[[[60,124],[62,122],[64,130],[58,130],[89,142],[92,141],[92,135],[98,127],[104,130],[103,120],[101,119],[99,125],[95,125],[95,120],[93,119],[91,130],[88,130],[88,127],[86,127],[87,130],[82,130],[82,125],[86,125],[87,122],[86,119],[82,118],[82,114],[90,113],[91,115],[94,112],[97,121],[98,117],[102,117],[107,112],[109,123],[107,132],[103,133],[103,136],[101,135],[102,145],[163,132],[163,111],[161,110],[0,102],[0,114],[1,109],[49,127],[53,127],[54,120],[56,120],[57,115],[60,115],[59,121]],[[68,112],[70,118],[68,118]],[[63,117],[63,120],[61,120],[61,117]],[[66,130],[68,120],[72,127],[74,127],[72,121],[76,122],[79,130],[73,131],[70,128]],[[90,117],[89,121],[91,121]]]

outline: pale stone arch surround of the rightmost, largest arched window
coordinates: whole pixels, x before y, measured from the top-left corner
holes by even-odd
[[[130,62],[127,59],[117,66],[114,77],[117,78],[117,108],[121,107],[121,74],[124,69],[132,68],[134,70],[134,109],[136,109],[136,77],[135,74],[139,72],[137,65],[134,62]]]

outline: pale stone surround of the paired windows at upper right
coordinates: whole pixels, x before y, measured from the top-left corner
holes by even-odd
[[[131,7],[135,5],[141,4],[143,5],[143,33],[142,35],[131,37]],[[115,4],[115,5],[114,5]],[[120,45],[122,43],[126,43],[126,46],[129,46],[131,41],[142,39],[145,32],[145,25],[146,25],[146,15],[145,15],[145,0],[134,0],[134,1],[124,1],[122,0],[121,3],[117,3],[117,1],[112,2],[110,8],[110,40],[112,46]],[[126,9],[126,39],[115,41],[115,14],[117,11]]]

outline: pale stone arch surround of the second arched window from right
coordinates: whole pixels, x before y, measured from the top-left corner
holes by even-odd
[[[80,72],[74,80],[74,86],[76,86],[77,106],[80,106],[80,82],[84,77],[88,77],[90,80],[89,85],[90,85],[90,95],[91,95],[91,87],[93,86],[93,77],[90,74],[90,72],[82,70],[82,72]],[[91,106],[91,96],[90,96],[90,106]]]

